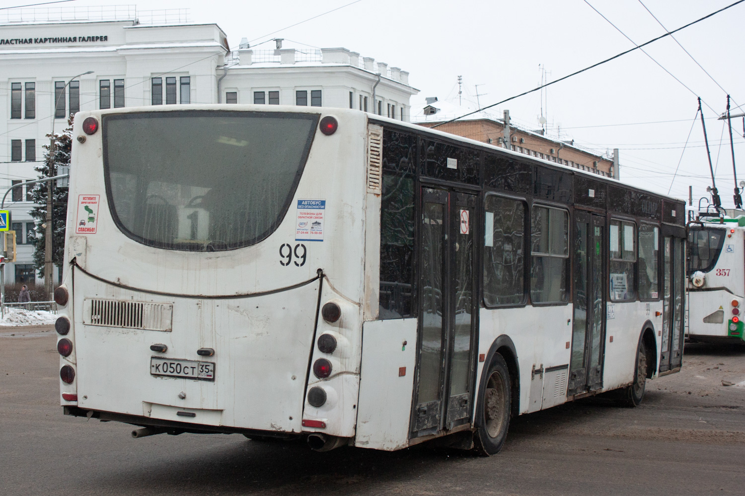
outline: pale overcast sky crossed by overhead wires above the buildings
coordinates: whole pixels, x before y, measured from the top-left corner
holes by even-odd
[[[138,7],[188,8],[191,22],[220,25],[232,48],[238,48],[242,37],[256,40],[252,45],[282,37],[288,40],[285,48],[299,43],[349,48],[409,71],[411,85],[420,90],[412,104],[434,96],[457,103],[460,75],[463,105],[475,106],[478,84],[484,106],[537,86],[541,80],[539,65],[545,67],[547,80],[551,81],[633,48],[632,42],[589,4],[638,44],[665,33],[639,0],[588,0],[589,4],[584,0],[361,0],[265,36],[350,1],[150,0]],[[735,0],[641,1],[668,30],[673,30]],[[25,3],[34,2],[0,1],[2,6]],[[108,4],[113,2],[80,0],[62,5]],[[745,3],[673,35],[743,106],[744,20]],[[256,49],[270,48],[273,43]],[[550,86],[543,101],[550,132],[556,133],[560,124],[562,139],[574,139],[575,144],[600,153],[621,149],[621,179],[661,193],[671,187],[680,161],[671,194],[687,198],[691,184],[697,200],[706,195],[706,186],[711,184],[700,120],[694,124],[696,97],[700,96],[717,187],[723,204],[732,207],[729,135],[723,126],[726,121],[716,119],[726,108],[726,92],[670,36],[645,50],[691,91],[650,57],[634,51]],[[539,129],[541,106],[542,98],[536,92],[492,110],[501,113],[510,109],[515,123]],[[740,112],[743,109],[732,111]],[[657,121],[668,122],[652,123]],[[743,119],[738,117],[732,123],[735,159],[741,166],[738,181],[745,180]]]

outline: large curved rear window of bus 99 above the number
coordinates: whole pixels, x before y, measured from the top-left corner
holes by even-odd
[[[109,207],[145,245],[218,251],[266,239],[290,206],[316,114],[104,115]]]

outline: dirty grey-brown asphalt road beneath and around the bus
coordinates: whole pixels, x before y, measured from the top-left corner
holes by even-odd
[[[513,419],[501,453],[482,458],[132,439],[131,426],[62,415],[54,343],[48,328],[0,328],[0,495],[744,494],[743,349],[688,347],[683,372],[648,383],[639,408],[594,399]]]

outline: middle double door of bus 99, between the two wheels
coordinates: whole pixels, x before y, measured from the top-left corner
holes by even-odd
[[[574,326],[567,395],[603,386],[606,274],[603,270],[605,219],[574,213]]]

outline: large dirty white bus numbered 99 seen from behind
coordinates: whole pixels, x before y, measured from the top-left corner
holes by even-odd
[[[363,112],[75,118],[64,412],[493,454],[512,416],[679,369],[682,202]]]

